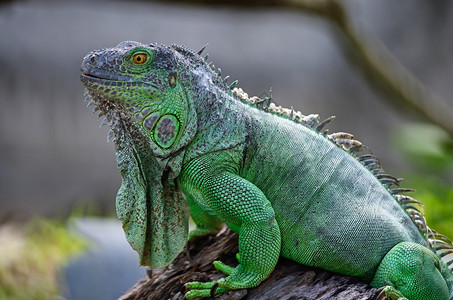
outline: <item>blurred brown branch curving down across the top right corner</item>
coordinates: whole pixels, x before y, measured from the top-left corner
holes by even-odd
[[[173,0],[190,4],[290,8],[334,24],[343,53],[376,90],[394,104],[409,107],[453,139],[453,107],[426,88],[372,34],[354,26],[341,0]]]

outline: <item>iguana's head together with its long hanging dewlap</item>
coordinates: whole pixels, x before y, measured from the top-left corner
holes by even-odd
[[[187,239],[188,208],[174,180],[197,130],[172,47],[122,42],[88,53],[81,81],[115,135],[122,176],[117,213],[140,263],[169,264]]]

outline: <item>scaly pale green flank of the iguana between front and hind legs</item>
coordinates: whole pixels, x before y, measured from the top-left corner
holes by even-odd
[[[247,110],[240,175],[267,196],[281,255],[371,281],[396,244],[426,239],[390,191],[356,157],[312,128]]]

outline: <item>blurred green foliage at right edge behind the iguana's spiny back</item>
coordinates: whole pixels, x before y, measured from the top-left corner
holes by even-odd
[[[424,203],[428,225],[453,239],[453,142],[442,129],[419,123],[397,129],[394,142],[414,169],[404,177]]]

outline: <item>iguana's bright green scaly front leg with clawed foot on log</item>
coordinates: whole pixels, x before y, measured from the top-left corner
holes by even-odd
[[[185,194],[195,195],[206,207],[239,234],[240,264],[236,268],[215,262],[226,278],[215,282],[186,284],[187,299],[209,297],[228,290],[251,288],[274,270],[280,255],[280,230],[274,210],[265,195],[244,178],[211,167],[204,159],[192,161],[180,180]],[[202,171],[200,171],[202,170]]]

